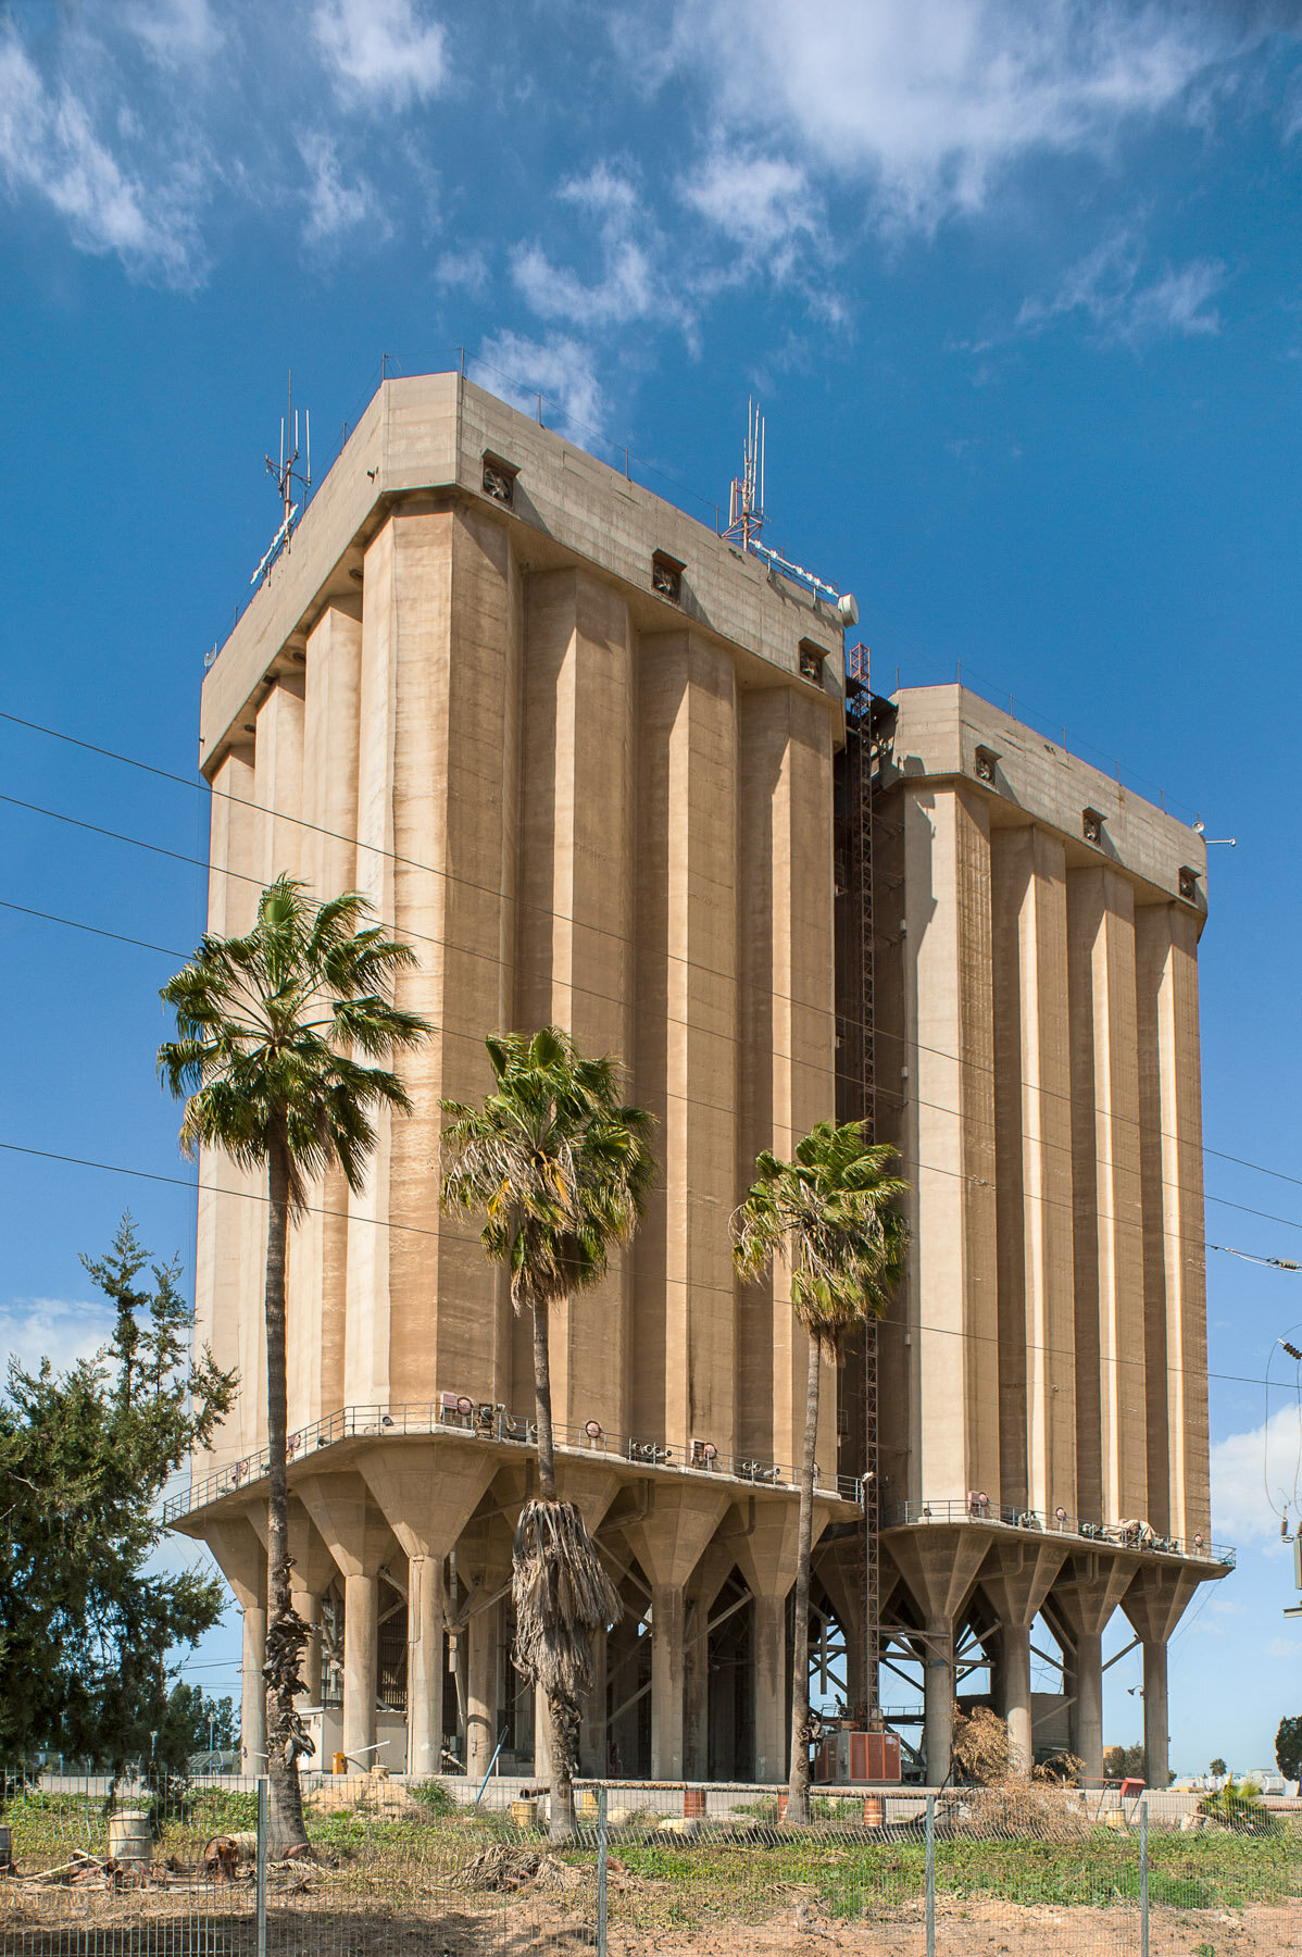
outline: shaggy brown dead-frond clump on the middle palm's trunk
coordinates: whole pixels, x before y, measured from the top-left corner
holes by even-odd
[[[573,1501],[524,1505],[510,1593],[516,1669],[549,1699],[585,1699],[592,1685],[592,1632],[618,1624],[624,1605]]]

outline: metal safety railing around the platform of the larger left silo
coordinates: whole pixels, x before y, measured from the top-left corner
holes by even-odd
[[[465,1393],[440,1393],[432,1401],[401,1407],[342,1407],[311,1427],[299,1427],[289,1434],[289,1466],[315,1458],[323,1448],[338,1446],[346,1440],[362,1438],[401,1438],[405,1434],[450,1434],[465,1440],[493,1442],[499,1446],[534,1448],[538,1429],[530,1415],[510,1413],[491,1401],[469,1399]],[[739,1481],[747,1487],[770,1487],[792,1493],[800,1485],[800,1470],[788,1462],[760,1460],[751,1454],[727,1454],[714,1440],[692,1438],[686,1442],[643,1440],[633,1434],[612,1434],[598,1421],[585,1421],[583,1427],[555,1423],[555,1444],[563,1454],[600,1456],[612,1464],[624,1462],[633,1468],[669,1470],[673,1474],[692,1474],[721,1481]],[[162,1507],[164,1523],[180,1521],[195,1509],[205,1509],[213,1501],[223,1501],[254,1487],[266,1479],[268,1450],[260,1448],[240,1460],[215,1468],[201,1479],[192,1479],[188,1489],[168,1495]],[[862,1481],[854,1476],[825,1476],[815,1466],[815,1487],[819,1495],[862,1507]]]

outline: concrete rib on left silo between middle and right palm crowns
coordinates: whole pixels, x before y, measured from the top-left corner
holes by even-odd
[[[633,1247],[633,1431],[733,1448],[737,703],[729,654],[643,636],[637,681],[637,1094],[665,1164]]]

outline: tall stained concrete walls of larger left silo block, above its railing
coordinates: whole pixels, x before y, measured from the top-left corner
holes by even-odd
[[[667,548],[678,603],[651,589]],[[729,1215],[760,1147],[833,1114],[841,738],[827,607],[456,376],[383,389],[203,691],[213,928],[282,871],[356,883],[434,1027],[366,1188],[328,1178],[295,1227],[291,1429],[442,1391],[532,1411],[530,1331],[438,1209],[438,1110],[487,1090],[485,1033],[555,1020],[626,1061],[661,1161],[633,1249],[553,1317],[557,1421],[798,1460],[803,1335],[782,1274],[739,1297]],[[221,1462],[264,1440],[266,1235],[227,1164],[201,1176],[199,1321],[244,1382]],[[829,1474],[835,1421],[833,1388]]]

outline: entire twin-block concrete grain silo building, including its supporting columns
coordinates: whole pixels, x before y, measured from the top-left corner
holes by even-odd
[[[1046,1716],[1101,1765],[1120,1605],[1165,1781],[1165,1638],[1224,1570],[1202,845],[968,693],[868,705],[862,665],[848,691],[846,720],[833,605],[457,376],[385,382],[211,665],[209,928],[244,928],[285,869],[358,887],[418,951],[401,1000],[436,1027],[368,1190],[326,1178],[291,1243],[291,1534],[326,1763],[545,1755],[504,1589],[530,1335],[475,1231],[440,1217],[438,1100],[485,1092],[485,1033],[553,1020],[624,1057],[663,1164],[629,1254],[553,1317],[563,1493],[626,1599],[585,1771],[786,1773],[803,1339],[782,1278],[737,1286],[727,1223],[755,1153],[858,1114],[868,1080],[915,1251],[825,1393],[821,1679],[890,1697],[868,1677],[876,1593],[942,1777],[974,1667],[1017,1744],[1040,1742],[1040,1613],[1065,1654]],[[266,1215],[223,1159],[199,1184],[197,1333],[242,1388],[170,1515],[244,1609],[252,1767]]]

